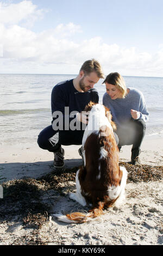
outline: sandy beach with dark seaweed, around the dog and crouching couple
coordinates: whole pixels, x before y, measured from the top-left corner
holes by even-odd
[[[66,170],[82,165],[78,148],[64,147]],[[131,146],[122,147],[120,164],[130,160],[130,150]],[[163,165],[161,135],[145,137],[141,150],[142,167]],[[67,224],[57,221],[53,214],[89,208],[83,208],[68,198],[68,192],[76,189],[75,172],[73,175],[67,173],[66,177],[70,178],[66,178],[66,182],[59,181],[54,187],[47,179],[53,178],[53,171],[53,153],[40,149],[36,143],[1,147],[0,182],[4,187],[4,198],[0,199],[0,245],[163,244],[162,176],[147,181],[140,179],[140,182],[128,180],[126,202],[118,208],[114,206],[105,210],[100,222]],[[24,185],[27,199],[22,198],[21,190],[18,192],[20,184],[27,186]],[[31,190],[34,188],[35,197]],[[44,208],[33,210],[35,208],[31,206],[30,209],[27,200]],[[21,202],[24,202],[24,208]]]

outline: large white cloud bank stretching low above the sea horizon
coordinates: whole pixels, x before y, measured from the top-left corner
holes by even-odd
[[[77,74],[86,59],[96,58],[106,74],[118,71],[122,75],[162,76],[161,44],[158,51],[150,54],[135,47],[109,45],[99,36],[77,43],[72,35],[82,32],[82,28],[72,22],[40,33],[22,25],[30,19],[41,19],[44,12],[31,1],[0,3],[1,72]]]

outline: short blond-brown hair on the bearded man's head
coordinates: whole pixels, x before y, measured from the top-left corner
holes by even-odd
[[[101,65],[96,59],[89,59],[83,63],[80,71],[84,71],[85,75],[89,75],[91,72],[96,72],[98,78],[104,78],[103,70]]]

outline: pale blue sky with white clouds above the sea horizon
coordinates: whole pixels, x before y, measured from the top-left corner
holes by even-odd
[[[163,77],[162,0],[0,0],[0,74]]]

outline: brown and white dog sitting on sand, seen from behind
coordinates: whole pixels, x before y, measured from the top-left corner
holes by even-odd
[[[54,215],[67,223],[96,220],[103,209],[120,205],[125,199],[127,170],[118,164],[119,151],[113,132],[116,127],[109,109],[90,102],[85,110],[90,114],[82,142],[84,166],[76,174],[77,191],[70,193],[70,198],[83,206],[89,203],[92,209],[87,214]]]

